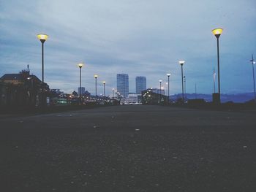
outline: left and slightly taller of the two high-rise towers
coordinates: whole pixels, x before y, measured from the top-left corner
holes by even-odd
[[[117,91],[124,97],[128,96],[129,93],[129,76],[128,74],[117,74],[116,75],[116,88]]]

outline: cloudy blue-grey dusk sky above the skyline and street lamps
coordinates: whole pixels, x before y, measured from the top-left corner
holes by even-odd
[[[116,88],[116,74],[146,76],[147,87],[159,87],[170,76],[170,93],[181,93],[181,66],[187,93],[212,93],[220,37],[222,93],[253,91],[252,53],[256,58],[255,0],[8,0],[0,1],[0,76],[17,73],[29,64],[41,79],[41,43],[45,33],[45,82],[67,93],[82,86],[98,93]]]

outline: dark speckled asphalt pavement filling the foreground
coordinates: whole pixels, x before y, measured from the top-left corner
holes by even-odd
[[[0,126],[0,191],[256,191],[252,112],[117,106]]]

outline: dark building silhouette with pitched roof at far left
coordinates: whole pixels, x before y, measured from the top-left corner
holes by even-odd
[[[46,104],[49,86],[33,74],[29,67],[18,74],[4,74],[0,78],[1,107],[37,107]]]

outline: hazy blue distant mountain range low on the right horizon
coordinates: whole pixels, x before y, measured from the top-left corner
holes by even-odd
[[[176,100],[181,97],[182,97],[182,94],[178,93],[173,96],[170,96],[170,99]],[[184,97],[187,99],[205,99],[208,102],[212,101],[211,94],[187,93],[187,94],[184,94]],[[223,103],[225,103],[227,101],[233,101],[234,103],[244,103],[244,102],[250,101],[252,99],[254,99],[254,93],[238,93],[238,94],[222,94],[221,95],[221,100]]]

